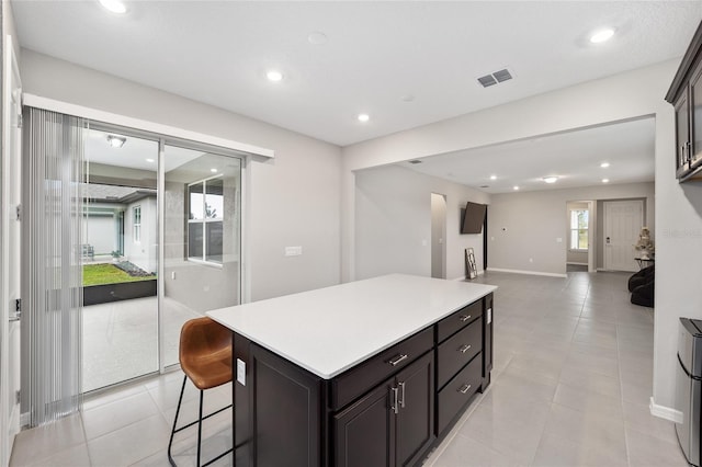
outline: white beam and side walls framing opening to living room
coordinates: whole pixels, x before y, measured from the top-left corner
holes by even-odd
[[[671,60],[631,70],[344,148],[342,278],[352,278],[355,274],[353,171],[654,115],[657,213],[654,400],[672,407],[678,318],[702,318],[702,295],[699,294],[702,186],[679,185],[675,179],[675,114],[664,100],[678,65],[679,60]],[[488,219],[490,217],[491,213]],[[559,231],[563,231],[562,225]]]

